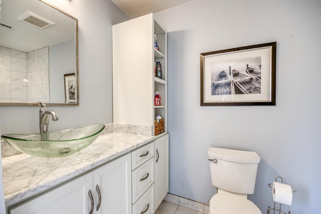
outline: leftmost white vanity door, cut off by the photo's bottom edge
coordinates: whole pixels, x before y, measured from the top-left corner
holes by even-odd
[[[9,208],[10,214],[88,214],[92,173],[83,175],[22,205]]]

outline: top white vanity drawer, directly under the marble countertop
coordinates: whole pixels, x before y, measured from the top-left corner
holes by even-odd
[[[131,170],[136,169],[138,166],[143,164],[149,158],[154,156],[155,151],[154,142],[149,143],[131,153]]]

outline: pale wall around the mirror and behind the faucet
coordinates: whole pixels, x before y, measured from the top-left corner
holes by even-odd
[[[111,26],[129,18],[112,2],[47,2],[78,19],[79,106],[49,106],[59,115],[57,130],[92,123],[112,123]],[[1,133],[38,133],[39,106],[0,106]]]

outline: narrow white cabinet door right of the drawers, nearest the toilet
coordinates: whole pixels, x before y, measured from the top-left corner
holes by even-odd
[[[169,135],[155,140],[155,209],[169,192]]]

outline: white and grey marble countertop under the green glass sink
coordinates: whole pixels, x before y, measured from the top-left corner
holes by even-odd
[[[6,206],[44,192],[154,139],[147,135],[108,133],[67,157],[40,158],[19,154],[2,158]]]

